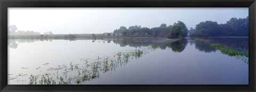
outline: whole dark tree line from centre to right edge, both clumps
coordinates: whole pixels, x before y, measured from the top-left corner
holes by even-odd
[[[204,21],[196,25],[195,29],[187,29],[186,24],[178,21],[173,25],[166,26],[162,23],[159,27],[147,28],[141,26],[131,26],[126,28],[121,26],[115,29],[114,34],[122,34],[123,36],[131,37],[168,37],[179,38],[186,37],[188,33],[190,36],[249,36],[249,17],[246,18],[231,18],[227,23],[218,24],[213,21]]]

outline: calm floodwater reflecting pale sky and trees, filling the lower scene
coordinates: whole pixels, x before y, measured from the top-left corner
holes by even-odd
[[[249,84],[248,57],[192,39],[167,40],[9,39],[8,85]],[[230,47],[248,52],[248,38],[238,41],[243,45]]]

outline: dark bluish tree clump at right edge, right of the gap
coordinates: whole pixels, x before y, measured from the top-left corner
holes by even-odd
[[[231,18],[227,23],[218,24],[213,21],[200,22],[196,28],[190,28],[191,36],[249,36],[249,17],[246,18]]]

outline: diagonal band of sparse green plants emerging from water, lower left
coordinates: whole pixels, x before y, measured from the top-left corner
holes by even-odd
[[[105,73],[108,71],[115,70],[117,66],[122,66],[127,64],[129,60],[133,57],[139,58],[142,56],[142,54],[146,54],[142,49],[135,49],[134,51],[130,52],[118,52],[117,54],[114,54],[113,57],[117,56],[116,58],[111,58],[111,57],[103,57],[100,58],[98,56],[97,59],[92,60],[93,62],[89,63],[87,59],[82,59],[81,61],[84,61],[84,66],[83,65],[78,65],[78,64],[73,64],[70,62],[69,66],[66,65],[59,65],[58,68],[50,68],[47,70],[51,71],[57,71],[57,79],[53,79],[53,74],[42,74],[42,76],[33,76],[31,75],[29,77],[29,85],[56,85],[58,82],[59,85],[69,85],[69,84],[81,84],[83,81],[90,81],[95,78],[99,78],[100,72]],[[118,60],[119,59],[119,60]],[[84,67],[84,68],[81,68]],[[65,77],[58,77],[58,71],[64,69],[63,76]],[[71,71],[70,71],[71,70]],[[82,71],[80,71],[82,70]],[[67,75],[69,75],[69,72],[72,71],[77,71],[78,75],[71,78],[67,78]],[[74,73],[71,73],[71,75]],[[41,78],[40,78],[41,77]],[[41,80],[37,80],[40,78]],[[39,83],[37,83],[39,81]]]

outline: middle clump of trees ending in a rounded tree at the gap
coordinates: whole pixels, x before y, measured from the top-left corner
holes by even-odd
[[[165,23],[162,23],[161,26],[155,28],[147,28],[141,26],[131,26],[128,29],[126,27],[120,27],[119,29],[114,30],[114,34],[121,34],[123,36],[130,37],[168,37],[168,38],[180,38],[185,37],[188,34],[188,29],[186,24],[178,21],[174,23],[173,26],[166,26]]]

